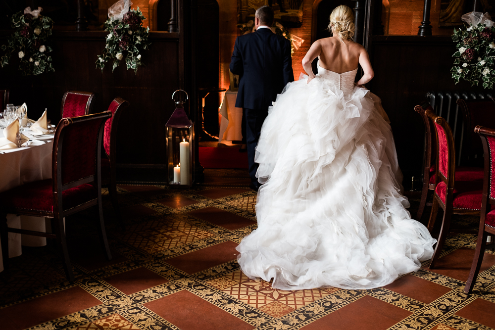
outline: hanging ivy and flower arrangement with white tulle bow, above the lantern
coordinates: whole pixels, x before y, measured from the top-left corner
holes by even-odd
[[[103,71],[105,64],[113,60],[112,72],[125,57],[127,70],[133,69],[137,73],[138,67],[143,65],[141,53],[148,49],[149,28],[143,27],[145,16],[139,9],[131,9],[132,2],[126,0],[125,4],[117,1],[108,9],[109,18],[104,24],[104,30],[110,32],[106,36],[106,45],[103,53],[98,56],[96,67]],[[116,5],[125,6],[117,14],[111,13]]]

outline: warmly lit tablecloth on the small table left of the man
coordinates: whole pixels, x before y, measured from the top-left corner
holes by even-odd
[[[241,131],[241,123],[243,119],[243,109],[236,108],[237,92],[228,90],[223,97],[220,114],[222,120],[220,122],[220,134],[218,142],[222,140],[241,141],[243,139]]]

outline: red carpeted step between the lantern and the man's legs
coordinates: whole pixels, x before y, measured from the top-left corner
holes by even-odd
[[[247,169],[247,152],[237,147],[199,147],[199,162],[204,168]]]

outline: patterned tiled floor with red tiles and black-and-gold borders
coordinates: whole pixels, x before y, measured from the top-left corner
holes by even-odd
[[[438,269],[377,289],[283,291],[249,280],[235,249],[256,227],[248,183],[245,171],[207,170],[192,190],[119,186],[126,232],[104,196],[113,259],[103,257],[94,210],[68,218],[76,281],[66,282],[51,246],[23,247],[0,273],[0,329],[495,328],[494,252],[485,253],[475,292],[463,292],[472,235],[450,237]]]

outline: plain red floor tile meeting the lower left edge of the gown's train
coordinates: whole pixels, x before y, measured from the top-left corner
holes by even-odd
[[[209,246],[198,251],[180,255],[166,260],[166,263],[178,269],[194,274],[199,271],[237,259],[236,246],[238,244],[229,241]]]

